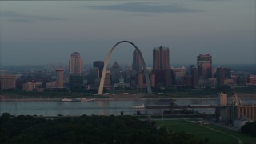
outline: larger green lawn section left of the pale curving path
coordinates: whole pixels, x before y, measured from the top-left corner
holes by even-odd
[[[185,132],[194,134],[196,137],[204,140],[209,139],[209,143],[238,143],[238,140],[229,135],[222,134],[215,130],[210,130],[204,126],[196,123],[188,122],[186,120],[166,120],[164,122],[157,122],[158,125],[164,126],[169,131]]]

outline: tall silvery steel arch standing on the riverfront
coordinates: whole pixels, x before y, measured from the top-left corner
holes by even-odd
[[[123,42],[126,42],[126,43],[130,43],[132,46],[134,46],[134,48],[136,50],[138,50],[138,47],[134,45],[133,42],[130,42],[130,41],[120,41],[118,43],[116,43],[112,49],[110,50],[109,54],[107,55],[106,57],[106,60],[104,62],[104,67],[103,67],[103,70],[102,70],[102,78],[101,78],[101,82],[99,84],[99,88],[98,88],[98,94],[102,95],[103,94],[103,86],[104,86],[104,82],[105,82],[105,75],[106,75],[106,67],[107,65],[109,64],[110,62],[110,56],[112,54],[112,52],[114,51],[114,48],[116,46],[118,46],[120,43],[123,43]],[[152,90],[151,90],[151,86],[150,86],[150,78],[149,78],[149,74],[147,73],[146,71],[146,64],[145,64],[145,61],[144,61],[144,58],[142,57],[142,53],[140,50],[138,50],[138,54],[139,56],[141,57],[141,60],[142,60],[142,66],[143,66],[143,71],[144,71],[144,76],[146,78],[146,89],[147,89],[147,94],[152,94]]]

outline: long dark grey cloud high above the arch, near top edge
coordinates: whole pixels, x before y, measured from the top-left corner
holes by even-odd
[[[191,9],[186,6],[172,4],[170,2],[130,2],[108,6],[83,6],[99,10],[119,10],[135,13],[185,13],[200,12],[202,10]]]

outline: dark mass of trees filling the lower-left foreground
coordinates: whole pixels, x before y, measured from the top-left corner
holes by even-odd
[[[132,116],[42,118],[0,117],[0,143],[207,143],[192,134],[173,133]]]

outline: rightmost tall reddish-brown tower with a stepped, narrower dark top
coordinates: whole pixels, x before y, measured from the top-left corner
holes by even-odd
[[[199,54],[197,64],[201,79],[212,78],[212,58],[210,54]]]

